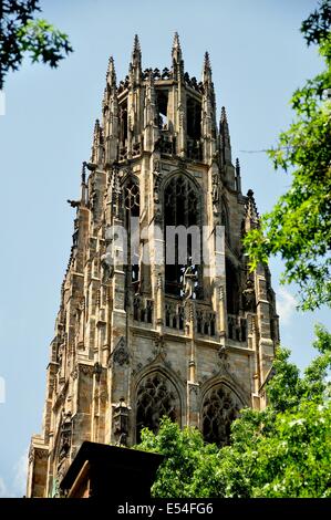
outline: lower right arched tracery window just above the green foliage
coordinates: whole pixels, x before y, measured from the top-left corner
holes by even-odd
[[[210,388],[203,405],[203,434],[207,443],[224,446],[230,439],[230,426],[239,415],[240,402],[227,386]]]

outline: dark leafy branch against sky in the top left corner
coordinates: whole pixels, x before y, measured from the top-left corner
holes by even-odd
[[[0,89],[9,71],[19,70],[24,54],[32,63],[56,67],[64,54],[72,52],[68,35],[46,20],[34,19],[41,11],[38,0],[2,0],[0,12]]]

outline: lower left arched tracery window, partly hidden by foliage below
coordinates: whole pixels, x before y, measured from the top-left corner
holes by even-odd
[[[164,375],[153,373],[143,378],[137,391],[136,440],[141,440],[142,428],[149,428],[155,434],[159,419],[169,417],[173,422],[180,419],[179,395],[175,385]]]

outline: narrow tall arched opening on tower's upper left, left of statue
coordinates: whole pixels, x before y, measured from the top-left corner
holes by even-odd
[[[128,180],[124,186],[124,209],[125,209],[125,228],[127,230],[127,253],[128,259],[132,260],[131,266],[131,281],[133,284],[139,282],[139,238],[135,241],[131,240],[131,233],[138,231],[138,222],[135,221],[137,229],[134,229],[132,218],[139,217],[139,187],[132,179]],[[132,250],[132,243],[135,245],[135,249]],[[131,261],[130,260],[130,261]]]

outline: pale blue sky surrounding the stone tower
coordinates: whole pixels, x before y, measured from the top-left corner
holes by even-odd
[[[314,0],[42,0],[42,17],[68,32],[75,52],[58,70],[24,63],[6,83],[0,116],[1,291],[0,497],[22,496],[30,436],[41,430],[49,343],[69,259],[81,163],[89,159],[94,119],[110,54],[117,79],[128,69],[139,34],[143,65],[169,66],[179,32],[185,69],[200,76],[210,53],[218,113],[227,108],[242,189],[252,188],[260,212],[272,207],[290,178],[275,173],[265,153],[291,122],[292,91],[321,70],[307,49],[301,21]],[[257,150],[256,153],[249,153]],[[296,312],[294,288],[279,288],[281,340],[300,367],[311,358],[313,323],[330,313]],[[0,384],[1,386],[1,384]],[[0,396],[1,397],[1,396]]]

